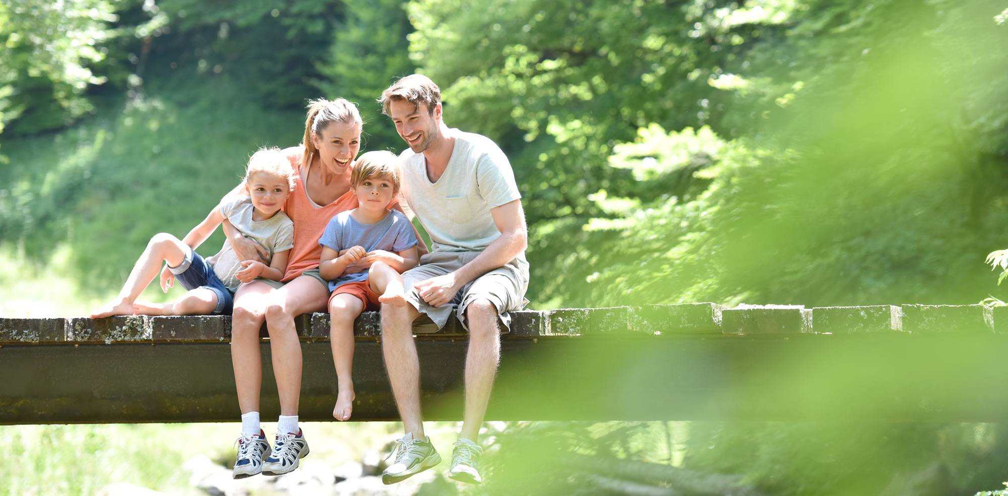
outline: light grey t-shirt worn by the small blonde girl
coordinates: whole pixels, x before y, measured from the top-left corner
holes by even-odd
[[[225,199],[219,207],[221,215],[224,216],[232,226],[235,227],[242,236],[254,240],[269,250],[270,260],[274,253],[289,250],[294,246],[294,223],[283,212],[277,212],[273,217],[265,221],[253,221],[252,200],[248,197],[236,199]],[[221,279],[228,289],[235,291],[242,281],[235,277],[242,267],[241,260],[231,248],[231,243],[224,241],[224,246],[216,255],[207,259],[207,263],[214,267],[214,273]]]

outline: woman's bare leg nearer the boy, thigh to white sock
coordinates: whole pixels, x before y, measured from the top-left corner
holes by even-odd
[[[324,312],[329,287],[314,277],[302,275],[277,289],[266,306],[269,349],[273,355],[273,375],[280,396],[280,414],[296,415],[301,392],[301,343],[294,318]]]

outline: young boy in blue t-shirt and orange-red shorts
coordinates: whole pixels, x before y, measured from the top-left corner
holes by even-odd
[[[319,270],[333,291],[330,341],[339,386],[333,416],[338,420],[349,419],[353,409],[354,320],[383,302],[406,304],[399,273],[415,266],[419,258],[409,220],[388,209],[399,193],[398,160],[390,151],[361,155],[350,175],[358,207],[333,217],[319,240],[323,246]],[[370,269],[344,273],[354,262]]]

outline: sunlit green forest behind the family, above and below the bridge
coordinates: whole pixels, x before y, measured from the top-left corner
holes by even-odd
[[[257,147],[299,142],[306,99],[356,102],[362,151],[401,150],[375,99],[414,72],[440,86],[449,126],[508,154],[533,308],[1004,299],[984,257],[1008,247],[1006,48],[996,0],[2,2],[0,316],[107,299]],[[832,459],[805,424],[698,423],[688,443],[578,428],[591,450],[761,494],[1008,479],[999,424],[823,433]]]

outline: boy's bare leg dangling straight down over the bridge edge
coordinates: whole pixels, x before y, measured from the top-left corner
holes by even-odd
[[[333,346],[339,393],[333,417],[348,420],[354,409],[354,321],[364,312],[364,302],[353,294],[340,293],[329,303],[329,341]]]

